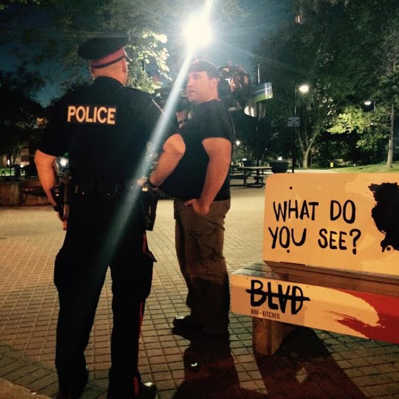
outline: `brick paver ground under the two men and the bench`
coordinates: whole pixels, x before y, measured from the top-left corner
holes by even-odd
[[[230,272],[262,257],[263,194],[264,189],[233,188],[225,239]],[[48,396],[57,392],[53,264],[63,236],[50,207],[0,208],[0,379]],[[190,344],[172,335],[173,317],[187,308],[170,200],[159,202],[148,236],[158,263],[146,304],[140,369],[144,381],[158,384],[161,399],[399,398],[398,345],[299,328],[274,356],[260,356],[252,350],[251,318],[233,314],[230,346]],[[106,397],[110,284],[108,274],[86,350],[91,371],[83,399]],[[191,367],[195,362],[198,369]]]

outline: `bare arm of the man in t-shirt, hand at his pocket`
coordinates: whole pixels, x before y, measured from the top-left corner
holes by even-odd
[[[202,142],[209,157],[204,187],[198,200],[190,200],[194,210],[206,214],[216,194],[226,180],[231,163],[231,142],[220,137],[212,137]]]

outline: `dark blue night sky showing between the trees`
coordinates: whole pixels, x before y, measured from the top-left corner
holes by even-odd
[[[217,66],[225,65],[228,62],[241,65],[255,79],[254,65],[257,60],[253,58],[251,50],[262,36],[273,31],[283,18],[286,18],[287,2],[272,2],[272,6],[270,2],[261,0],[242,0],[240,3],[246,10],[246,15],[238,15],[232,20],[224,20],[218,15],[211,15],[214,38],[211,45],[202,50],[199,55],[214,62]],[[57,32],[48,28],[49,21],[46,18],[46,14],[43,13],[28,18],[25,23],[36,27],[43,26],[45,34],[57,35]],[[184,16],[182,16],[183,20]],[[20,21],[13,21],[13,23],[19,24]],[[167,34],[170,46],[175,45],[173,40],[178,37],[175,32],[179,30],[181,27],[170,27],[170,32],[162,32]],[[12,29],[9,32],[12,34]],[[13,71],[21,64],[22,60],[31,59],[36,52],[34,44],[33,46],[30,44],[28,47],[16,43],[1,46],[0,70]],[[18,53],[18,56],[15,53]],[[39,65],[30,63],[28,69],[38,70],[46,80],[46,86],[37,95],[37,100],[40,103],[48,105],[52,97],[61,95],[58,83],[62,76],[60,61],[44,60]],[[90,79],[88,73],[87,78]]]

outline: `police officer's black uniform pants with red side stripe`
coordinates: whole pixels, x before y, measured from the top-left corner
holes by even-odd
[[[85,373],[84,350],[109,265],[114,327],[108,397],[137,394],[140,327],[153,260],[137,207],[131,212],[130,206],[71,204],[54,271],[60,303],[55,360],[60,388],[79,384]]]

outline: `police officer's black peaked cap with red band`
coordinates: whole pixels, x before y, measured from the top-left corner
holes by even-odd
[[[89,60],[92,68],[104,68],[124,57],[128,58],[123,48],[128,42],[129,35],[127,34],[95,36],[79,46],[78,54]]]

